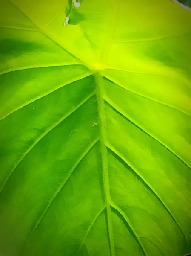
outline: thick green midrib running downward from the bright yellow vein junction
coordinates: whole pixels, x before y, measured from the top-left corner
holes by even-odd
[[[95,78],[95,83],[97,87],[97,103],[98,103],[99,126],[100,126],[100,151],[101,151],[101,157],[102,157],[105,205],[107,209],[108,236],[109,236],[111,256],[114,256],[115,252],[114,252],[113,230],[112,230],[112,221],[111,221],[111,206],[110,206],[111,196],[110,196],[110,190],[109,190],[108,158],[107,158],[107,148],[105,146],[106,132],[105,132],[103,87],[101,86],[102,76],[100,75],[100,73],[97,72],[95,73],[94,78]]]

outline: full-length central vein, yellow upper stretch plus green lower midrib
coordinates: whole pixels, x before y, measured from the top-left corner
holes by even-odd
[[[100,56],[100,61],[94,65],[94,70],[103,70],[107,62],[109,52],[113,43],[114,33],[116,29],[116,20],[118,9],[122,0],[117,0],[111,8],[114,17],[111,22],[108,24],[108,36],[105,38],[105,44],[102,49],[102,54]],[[107,148],[105,145],[106,142],[106,130],[105,130],[105,108],[104,108],[104,88],[103,88],[103,77],[97,71],[94,74],[94,79],[97,88],[97,104],[98,104],[98,114],[99,114],[99,126],[100,126],[100,151],[102,158],[102,168],[103,168],[103,187],[104,187],[104,197],[105,197],[105,206],[107,209],[107,229],[108,229],[108,240],[110,246],[111,256],[115,256],[114,250],[114,239],[113,239],[113,228],[112,228],[112,219],[111,219],[111,195],[109,189],[109,176],[108,176],[108,156]]]

